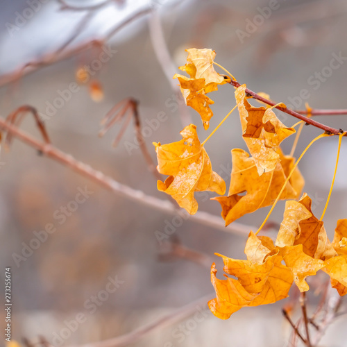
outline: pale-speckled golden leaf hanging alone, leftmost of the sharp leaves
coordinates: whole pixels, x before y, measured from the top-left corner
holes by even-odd
[[[170,175],[165,182],[158,180],[158,190],[171,195],[189,214],[195,214],[198,203],[194,192],[209,190],[224,194],[226,183],[212,171],[208,153],[198,139],[196,126],[186,126],[183,139],[171,144],[154,143],[160,174]]]

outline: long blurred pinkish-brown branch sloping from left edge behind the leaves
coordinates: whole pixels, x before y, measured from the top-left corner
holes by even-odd
[[[94,180],[94,182],[99,183],[99,185],[102,185],[112,192],[115,192],[130,200],[137,201],[138,203],[147,205],[151,208],[155,208],[155,210],[169,214],[178,214],[176,206],[169,201],[146,195],[140,190],[133,189],[131,187],[128,187],[127,185],[123,185],[117,182],[117,180],[106,176],[101,171],[93,169],[92,167],[90,167],[90,165],[79,162],[72,155],[60,151],[51,144],[37,141],[37,139],[31,137],[27,133],[24,133],[22,130],[19,130],[16,126],[13,126],[4,119],[1,119],[1,117],[0,128],[11,133],[12,136],[21,139],[23,142],[33,147],[34,149],[37,149],[37,151],[40,151],[40,153],[42,153],[43,155],[46,155],[47,157],[60,162],[60,164],[64,164],[67,167],[70,167],[74,171],[78,172],[78,174]],[[197,223],[201,223],[203,224],[203,226],[210,226],[211,228],[222,230],[224,232],[233,232],[235,234],[243,236],[248,235],[249,231],[252,229],[251,226],[244,226],[243,224],[235,222],[230,224],[229,228],[226,228],[221,217],[214,216],[213,214],[207,212],[196,212],[194,216],[189,216],[188,219]],[[254,227],[253,230],[255,230]]]

